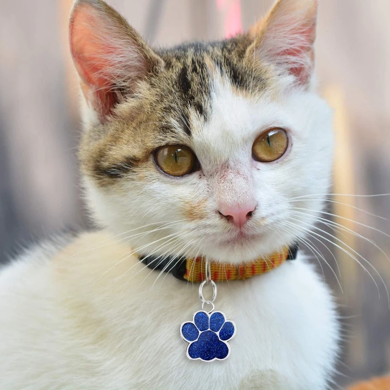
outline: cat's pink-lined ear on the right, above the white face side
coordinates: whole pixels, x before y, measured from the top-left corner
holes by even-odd
[[[318,0],[278,0],[250,34],[247,56],[268,62],[308,87],[314,69]]]

